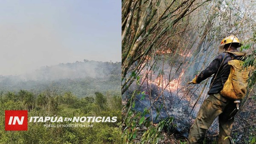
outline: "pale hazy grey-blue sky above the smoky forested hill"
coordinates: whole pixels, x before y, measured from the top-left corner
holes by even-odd
[[[117,0],[0,1],[0,75],[75,61],[121,61]]]

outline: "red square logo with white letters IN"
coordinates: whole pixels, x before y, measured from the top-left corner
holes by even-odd
[[[5,130],[28,130],[28,111],[6,110]]]

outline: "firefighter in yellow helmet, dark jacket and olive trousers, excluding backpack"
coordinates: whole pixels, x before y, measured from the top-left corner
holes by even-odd
[[[231,59],[240,59],[244,56],[244,53],[238,52],[237,50],[241,45],[237,37],[233,35],[225,37],[219,46],[220,54],[206,69],[189,82],[189,84],[199,84],[214,74],[209,87],[209,97],[202,104],[195,118],[195,122],[190,128],[188,144],[195,144],[201,138],[202,134],[208,130],[217,116],[219,122],[218,143],[231,143],[230,138],[226,138],[225,140],[224,138],[230,136],[234,122],[233,116],[236,113],[234,112],[236,104],[232,100],[224,98],[219,92],[230,74],[230,65],[227,62]],[[230,54],[224,51],[235,52],[236,54]]]

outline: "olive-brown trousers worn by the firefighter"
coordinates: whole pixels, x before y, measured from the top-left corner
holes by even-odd
[[[232,100],[226,99],[220,94],[212,94],[203,102],[194,124],[190,128],[188,144],[195,144],[206,130],[209,129],[212,122],[218,116],[219,135],[218,144],[231,144],[230,136],[234,113],[236,114],[236,104]],[[232,115],[233,114],[233,115]]]

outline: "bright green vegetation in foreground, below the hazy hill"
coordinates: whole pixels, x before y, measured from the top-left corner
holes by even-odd
[[[0,94],[0,143],[5,144],[120,144],[121,97],[111,91],[78,98],[60,95],[53,87],[35,94],[26,90]],[[115,123],[92,123],[93,127],[44,127],[28,123],[28,131],[5,131],[5,111],[27,109],[30,116],[117,116]],[[62,123],[61,123],[62,124]],[[69,124],[65,123],[64,124]]]

